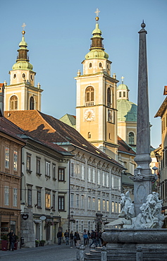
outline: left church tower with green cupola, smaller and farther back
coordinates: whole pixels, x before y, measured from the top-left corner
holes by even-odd
[[[27,42],[25,42],[25,24],[23,24],[22,40],[19,44],[18,57],[10,74],[10,85],[5,85],[4,110],[41,110],[42,89],[38,83],[35,87],[35,72],[29,63]]]

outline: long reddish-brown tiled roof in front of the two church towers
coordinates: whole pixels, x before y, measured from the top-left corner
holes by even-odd
[[[37,110],[5,111],[4,115],[6,117],[9,115],[8,119],[10,121],[17,123],[28,135],[37,137],[39,140],[44,140],[44,142],[49,142],[49,144],[52,142],[69,142],[82,150],[102,157],[108,162],[112,162],[123,168],[115,159],[111,159],[107,154],[101,152],[101,150],[85,140],[73,127],[55,119],[53,116],[43,114]]]

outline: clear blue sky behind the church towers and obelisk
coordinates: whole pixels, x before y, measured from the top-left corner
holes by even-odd
[[[60,119],[75,115],[78,69],[89,51],[95,11],[104,48],[116,73],[130,89],[130,101],[137,104],[139,30],[144,19],[147,30],[149,112],[151,145],[161,144],[161,119],[154,116],[161,106],[167,85],[167,0],[8,0],[0,2],[0,83],[9,84],[8,71],[16,63],[18,44],[25,27],[35,86],[40,83],[42,112]],[[118,83],[119,85],[119,83]]]

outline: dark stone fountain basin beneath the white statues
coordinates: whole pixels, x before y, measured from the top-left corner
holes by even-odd
[[[167,229],[105,229],[107,243],[166,244]]]

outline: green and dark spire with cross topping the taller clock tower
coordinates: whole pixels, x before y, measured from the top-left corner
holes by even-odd
[[[103,40],[104,38],[101,37],[101,30],[99,29],[99,9],[97,8],[97,11],[94,13],[97,14],[95,20],[96,20],[96,26],[95,29],[92,32],[92,44],[90,46],[90,51],[88,54],[86,54],[85,59],[108,59],[109,54],[107,54],[104,51],[104,45]]]

